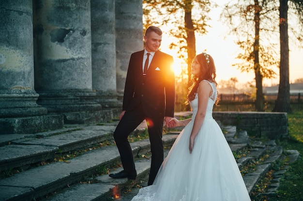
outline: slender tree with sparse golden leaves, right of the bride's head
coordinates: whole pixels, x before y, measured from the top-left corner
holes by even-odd
[[[278,64],[273,49],[275,44],[271,42],[272,40],[266,40],[266,36],[273,36],[267,33],[274,31],[272,20],[272,15],[275,14],[274,8],[273,1],[237,0],[227,3],[222,13],[231,27],[231,32],[237,35],[237,44],[243,50],[237,58],[244,62],[234,64],[234,66],[242,72],[255,72],[257,111],[264,111],[262,80],[274,77],[275,72],[271,67]]]

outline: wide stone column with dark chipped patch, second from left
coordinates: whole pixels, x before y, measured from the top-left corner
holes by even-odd
[[[33,0],[38,103],[65,123],[111,120],[95,102],[91,77],[90,0]]]

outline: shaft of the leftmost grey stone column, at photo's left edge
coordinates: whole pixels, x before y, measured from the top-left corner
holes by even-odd
[[[32,0],[1,1],[0,18],[0,98],[34,106]]]

